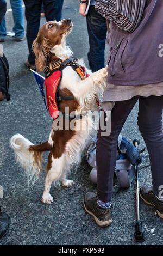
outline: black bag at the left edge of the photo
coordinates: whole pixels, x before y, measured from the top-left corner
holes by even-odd
[[[0,56],[0,100],[10,100],[9,82],[9,63],[3,54],[3,57]]]

